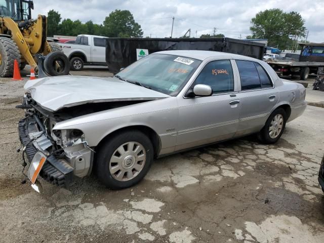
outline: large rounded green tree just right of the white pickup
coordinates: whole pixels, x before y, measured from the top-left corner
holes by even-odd
[[[128,10],[111,12],[103,21],[103,28],[108,37],[142,37],[141,25],[135,22]]]

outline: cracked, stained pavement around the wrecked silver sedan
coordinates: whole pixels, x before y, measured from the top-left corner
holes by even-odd
[[[92,175],[69,190],[42,181],[37,194],[21,184],[16,152],[22,85],[0,80],[2,242],[323,241],[323,108],[308,106],[274,145],[250,136],[156,159],[133,188],[108,190]]]

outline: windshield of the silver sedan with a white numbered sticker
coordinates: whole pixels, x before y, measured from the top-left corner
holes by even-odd
[[[176,96],[201,61],[166,54],[151,54],[116,74],[120,79]]]

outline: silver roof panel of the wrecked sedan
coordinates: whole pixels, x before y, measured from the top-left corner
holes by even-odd
[[[210,57],[225,57],[225,58],[244,58],[246,60],[258,60],[248,56],[242,56],[227,52],[214,52],[214,51],[200,51],[200,50],[175,50],[175,51],[161,51],[155,52],[152,54],[168,54],[168,55],[175,55],[175,56],[182,56],[182,57],[189,57],[194,58],[197,60],[205,60]]]

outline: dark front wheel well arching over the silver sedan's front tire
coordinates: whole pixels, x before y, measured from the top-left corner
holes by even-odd
[[[100,147],[104,141],[115,136],[116,134],[118,134],[120,132],[131,131],[131,130],[141,131],[142,133],[144,133],[145,135],[148,136],[148,138],[151,140],[151,143],[154,148],[154,157],[156,157],[160,150],[160,139],[159,139],[159,136],[157,135],[157,133],[153,129],[146,127],[146,126],[131,126],[131,127],[126,127],[126,128],[120,128],[120,129],[108,134],[106,137],[104,137],[97,145],[97,148]]]

